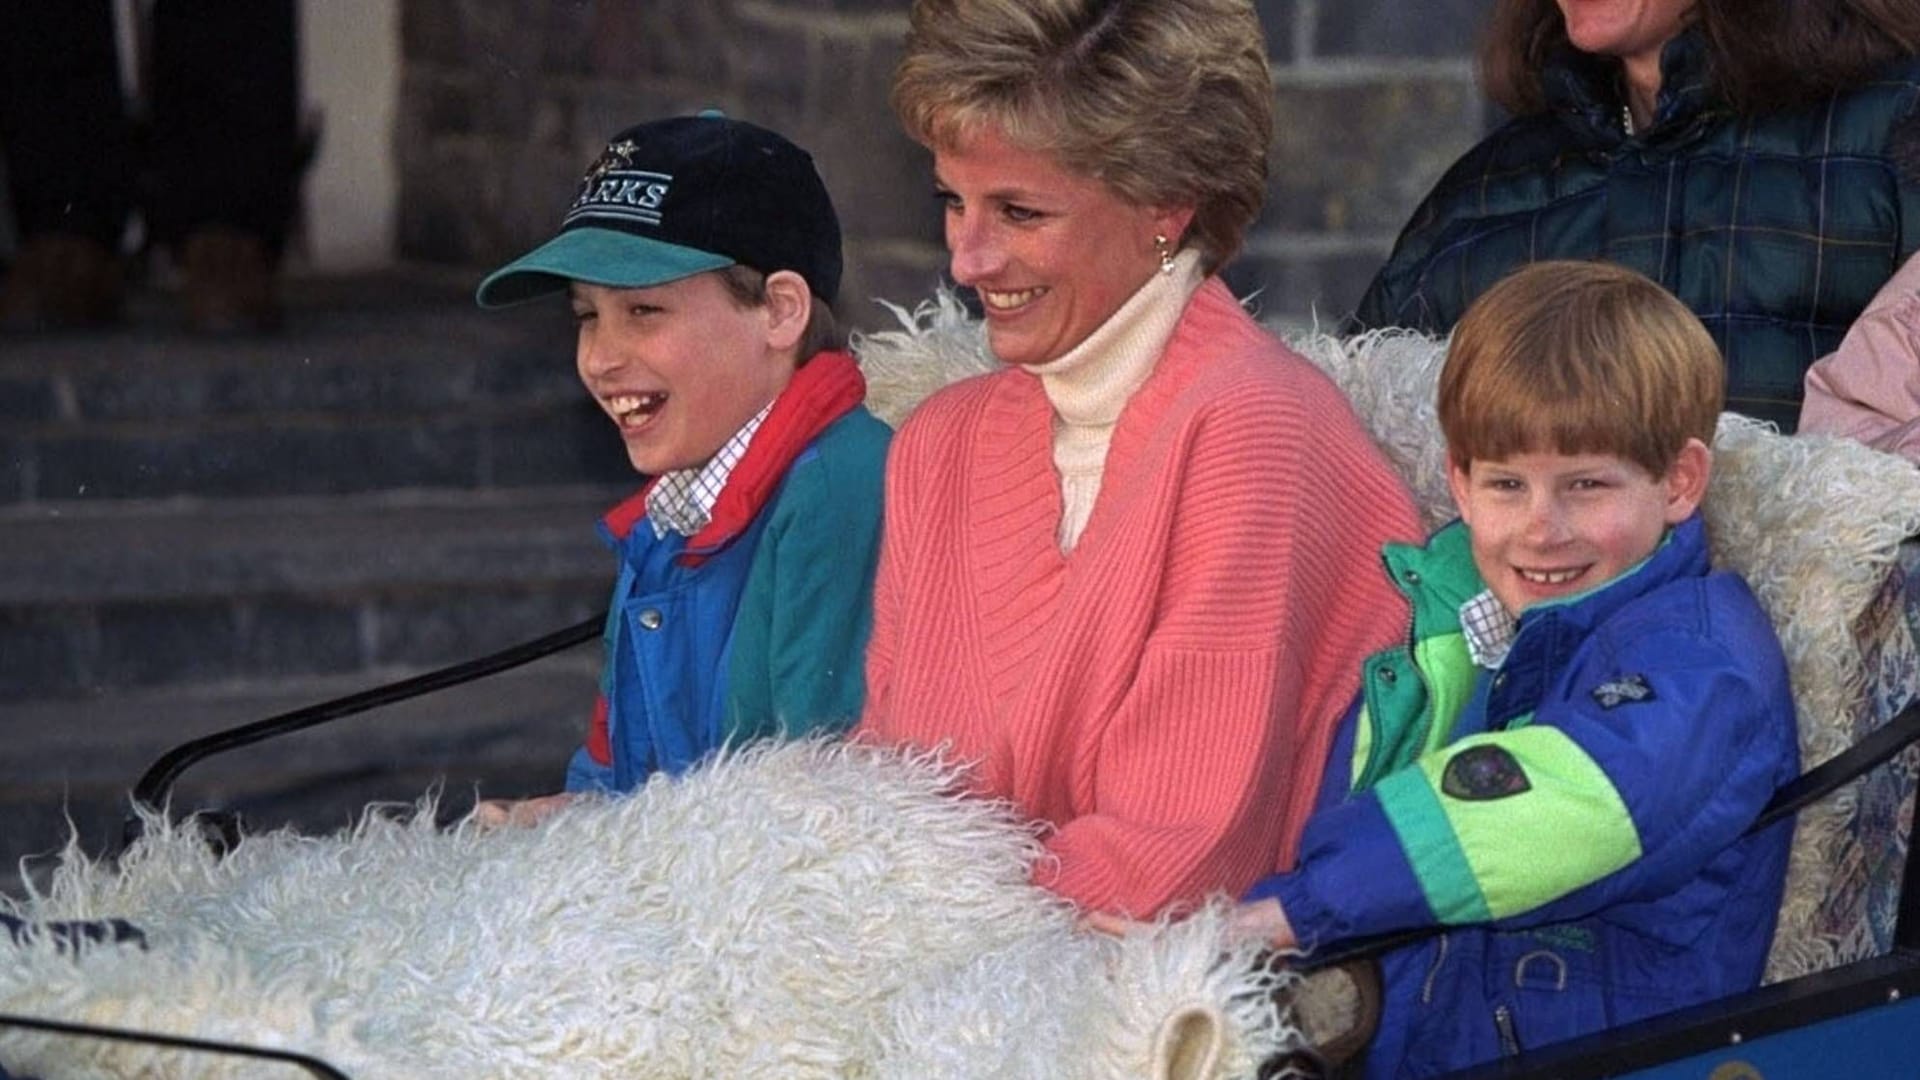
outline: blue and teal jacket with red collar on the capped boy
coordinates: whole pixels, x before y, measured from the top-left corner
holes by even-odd
[[[860,717],[889,440],[864,396],[851,357],[814,356],[701,532],[655,538],[645,488],[607,515],[620,571],[566,790],[626,792],[726,744]]]

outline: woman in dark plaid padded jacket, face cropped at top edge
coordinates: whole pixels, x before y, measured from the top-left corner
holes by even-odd
[[[1448,332],[1523,263],[1678,296],[1728,407],[1793,429],[1801,379],[1920,250],[1914,0],[1496,0],[1513,119],[1413,211],[1356,327]]]

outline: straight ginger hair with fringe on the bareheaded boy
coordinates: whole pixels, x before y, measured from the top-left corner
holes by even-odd
[[[1672,294],[1613,263],[1507,275],[1453,327],[1440,430],[1461,471],[1517,454],[1611,454],[1659,479],[1713,446],[1726,365]]]

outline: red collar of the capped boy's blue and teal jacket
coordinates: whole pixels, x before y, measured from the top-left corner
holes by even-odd
[[[833,421],[851,413],[866,400],[866,377],[852,356],[845,352],[822,352],[793,371],[787,388],[774,398],[772,411],[753,432],[747,454],[728,475],[726,488],[714,500],[712,517],[707,527],[687,538],[687,548],[676,555],[684,567],[697,567],[708,555],[724,548],[753,523],[766,500],[774,498],[787,467],[820,436]],[[634,527],[647,517],[647,492],[655,479],[649,479],[637,494],[607,511],[601,525],[614,540],[626,540]]]

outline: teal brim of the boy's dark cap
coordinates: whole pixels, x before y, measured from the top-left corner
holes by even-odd
[[[733,259],[726,256],[632,233],[568,229],[490,273],[474,290],[474,300],[482,307],[507,307],[563,292],[572,281],[609,288],[645,288],[730,265]]]

